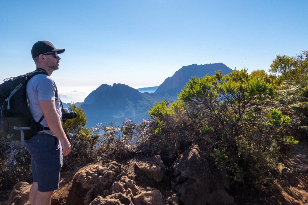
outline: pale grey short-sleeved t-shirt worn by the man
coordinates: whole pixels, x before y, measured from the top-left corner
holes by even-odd
[[[28,98],[29,108],[35,122],[39,122],[39,120],[43,116],[43,111],[39,106],[39,101],[53,100],[55,101],[56,110],[57,113],[59,114],[62,123],[60,98],[59,97],[57,99],[55,98],[55,91],[56,91],[56,84],[54,80],[50,76],[45,74],[35,75],[27,83],[27,98]],[[42,120],[41,125],[44,127],[48,127],[45,118]],[[52,131],[44,130],[43,132],[55,136],[55,134]]]

